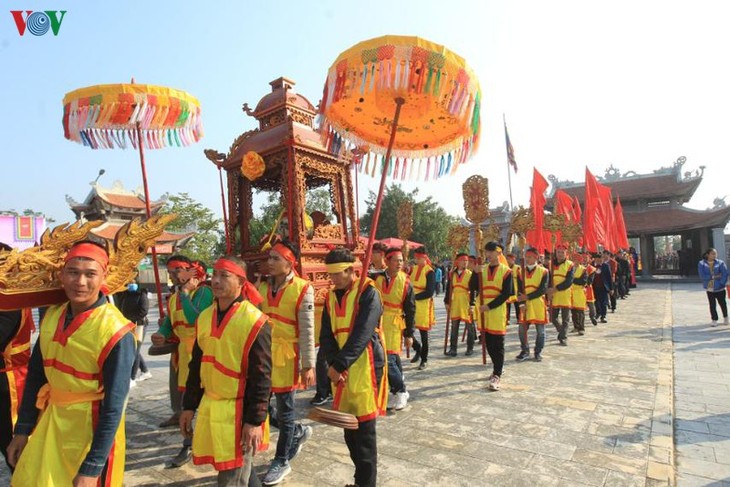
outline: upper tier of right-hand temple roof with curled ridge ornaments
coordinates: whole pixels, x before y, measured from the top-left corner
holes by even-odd
[[[639,199],[644,200],[678,200],[681,203],[688,202],[697,187],[702,182],[704,166],[694,173],[685,172],[682,175],[682,166],[686,159],[680,157],[671,167],[657,169],[650,174],[636,174],[633,171],[623,175],[613,166],[606,170],[599,182],[611,188],[614,198],[621,198],[621,201],[628,203]],[[576,196],[583,203],[585,200],[585,183],[574,183],[572,181],[558,181],[555,176],[550,176],[553,183],[553,194],[556,189],[562,189],[570,196]]]

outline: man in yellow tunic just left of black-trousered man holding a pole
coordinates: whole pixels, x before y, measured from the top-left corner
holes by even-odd
[[[451,272],[448,282],[446,283],[446,296],[444,304],[446,305],[446,314],[451,320],[451,346],[446,355],[456,357],[456,348],[459,343],[459,325],[463,322],[467,327],[466,355],[474,353],[474,342],[476,341],[476,331],[472,330],[476,325],[472,321],[474,313],[475,292],[469,291],[469,282],[471,281],[472,271],[466,268],[469,258],[466,254],[456,255],[454,264],[456,267]]]

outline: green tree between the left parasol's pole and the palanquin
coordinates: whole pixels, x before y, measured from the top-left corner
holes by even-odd
[[[211,263],[220,254],[221,240],[225,249],[222,219],[216,218],[209,208],[192,199],[188,193],[178,193],[168,197],[160,214],[170,213],[176,213],[177,219],[166,227],[167,231],[194,233],[180,250],[181,254]]]

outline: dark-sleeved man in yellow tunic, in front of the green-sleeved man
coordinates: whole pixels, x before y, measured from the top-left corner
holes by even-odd
[[[249,485],[253,455],[265,443],[271,394],[271,326],[243,296],[249,284],[245,265],[235,256],[213,265],[215,301],[197,319],[180,414],[180,431],[192,439],[193,463],[212,465],[219,486]]]

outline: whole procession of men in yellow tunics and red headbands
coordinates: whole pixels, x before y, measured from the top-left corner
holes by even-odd
[[[557,343],[567,346],[572,332],[586,333],[586,311],[594,326],[605,324],[608,310],[616,310],[611,299],[616,290],[620,299],[629,294],[625,275],[612,272],[610,252],[570,254],[559,245],[554,257],[539,263],[544,256],[528,248],[520,264],[515,254],[505,258],[498,242],[488,242],[483,253],[484,263],[473,258],[471,269],[469,256],[456,254],[448,273],[444,303],[451,330],[444,352],[457,356],[463,323],[465,355],[473,355],[478,343],[489,356],[487,389],[492,392],[500,390],[509,367],[508,325],[518,325],[516,361],[541,362],[549,321]],[[327,254],[332,288],[316,340],[313,286],[298,276],[299,249],[291,242],[275,243],[268,252],[268,278],[258,282],[248,280],[246,262],[235,256],[219,258],[212,276],[204,264],[185,256],[168,259],[174,286],[167,316],[152,341],[154,346],[176,344],[169,363],[174,415],[160,427],[179,426],[183,446],[167,468],[190,460],[210,465],[222,486],[282,482],[314,432],[296,422],[305,411],[295,410],[295,394],[315,384],[316,341],[332,409],[354,416],[358,424],[345,429],[355,485],[376,485],[377,418],[397,415],[409,404],[418,407],[409,403],[407,382],[428,364],[435,284],[425,248],[415,249],[412,263],[401,248],[377,246],[374,255],[369,272],[360,277],[361,263],[351,251],[336,248]],[[630,264],[624,253],[621,259]],[[1,315],[3,383],[12,385],[3,389],[2,426],[13,429],[12,441],[3,437],[2,452],[14,471],[12,485],[121,485],[124,410],[141,344],[135,324],[108,302],[108,262],[102,245],[84,241],[71,247],[61,274],[68,302],[45,311],[32,354],[30,313]],[[597,306],[590,306],[593,302]],[[416,328],[420,342],[414,338]],[[413,353],[411,368],[407,360],[403,365],[406,350]],[[20,376],[23,380],[17,380]],[[259,479],[254,455],[268,447],[270,426],[279,431],[276,453]],[[78,438],[73,449],[61,448],[71,436]]]

